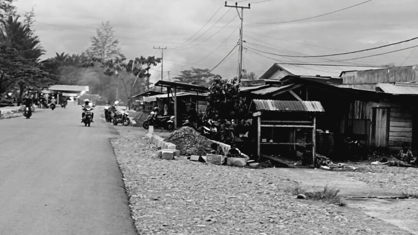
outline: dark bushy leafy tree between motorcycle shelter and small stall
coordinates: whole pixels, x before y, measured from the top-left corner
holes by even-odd
[[[245,100],[240,96],[236,79],[223,80],[217,76],[209,86],[206,115],[212,119],[244,119],[248,114]]]

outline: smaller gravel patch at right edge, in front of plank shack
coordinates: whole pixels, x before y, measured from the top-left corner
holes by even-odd
[[[341,174],[386,191],[418,195],[418,168],[375,166],[370,162],[353,163],[352,166],[360,170]]]

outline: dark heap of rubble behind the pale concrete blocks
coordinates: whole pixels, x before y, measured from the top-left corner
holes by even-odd
[[[210,141],[205,136],[202,136],[191,127],[182,127],[174,131],[164,141],[173,143],[180,150],[180,155],[206,155],[212,149]]]

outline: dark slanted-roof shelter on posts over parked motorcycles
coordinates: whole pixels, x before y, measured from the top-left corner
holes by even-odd
[[[196,95],[199,96],[199,93],[207,93],[209,92],[209,88],[200,85],[193,85],[193,84],[186,84],[186,83],[178,83],[178,82],[170,82],[160,80],[158,81],[155,86],[161,86],[167,88],[167,98],[170,99],[170,94],[174,99],[174,128],[177,128],[177,91],[185,91],[185,92],[196,92]],[[174,90],[174,93],[173,93]],[[198,102],[196,102],[196,110],[198,109]]]

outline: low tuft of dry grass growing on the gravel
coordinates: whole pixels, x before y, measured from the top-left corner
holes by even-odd
[[[340,190],[325,186],[323,190],[305,190],[299,184],[285,189],[287,194],[299,195],[303,194],[307,199],[314,201],[322,201],[325,203],[346,206],[347,203],[341,198]]]

